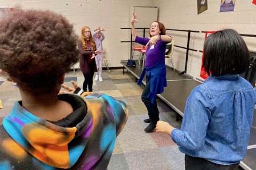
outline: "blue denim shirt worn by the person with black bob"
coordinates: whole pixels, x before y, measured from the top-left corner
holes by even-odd
[[[181,152],[229,165],[246,155],[256,92],[238,75],[210,76],[187,99],[181,130],[171,137]]]

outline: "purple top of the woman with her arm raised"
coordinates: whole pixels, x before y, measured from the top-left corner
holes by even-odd
[[[144,46],[147,45],[148,41],[149,38],[142,38],[139,36],[135,38],[136,43],[139,43]],[[147,56],[145,60],[146,67],[151,67],[156,63],[165,61],[165,48],[167,43],[169,42],[158,40],[155,45],[151,46],[151,48],[150,46],[147,47],[145,53],[145,55]]]

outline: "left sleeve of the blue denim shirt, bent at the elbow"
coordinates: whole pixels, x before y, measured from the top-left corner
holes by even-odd
[[[210,97],[201,86],[196,87],[187,99],[181,130],[174,129],[171,138],[177,145],[198,150],[204,145],[211,116]]]

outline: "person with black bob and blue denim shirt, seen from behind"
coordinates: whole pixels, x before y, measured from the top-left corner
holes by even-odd
[[[256,92],[238,74],[249,63],[249,50],[235,30],[205,40],[203,66],[210,77],[188,97],[181,129],[163,121],[156,125],[186,154],[186,169],[236,169],[245,157]]]

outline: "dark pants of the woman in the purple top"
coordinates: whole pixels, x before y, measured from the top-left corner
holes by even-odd
[[[151,104],[150,99],[147,97],[149,92],[150,92],[150,79],[148,80],[148,82],[142,92],[141,100],[143,101],[143,103],[145,104],[145,106],[148,109],[148,116],[149,116],[150,120],[152,122],[156,123],[157,121],[159,121],[159,112],[158,112],[156,100],[155,100],[154,104]]]

